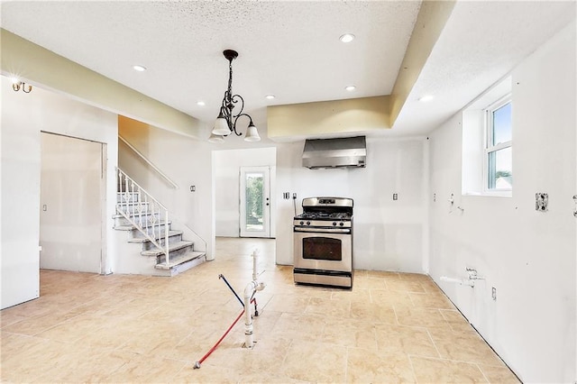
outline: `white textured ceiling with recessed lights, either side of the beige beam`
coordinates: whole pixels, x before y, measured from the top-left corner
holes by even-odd
[[[267,105],[389,95],[420,1],[1,6],[2,28],[207,124],[228,81],[222,51],[237,50],[233,90],[261,129]],[[574,1],[458,2],[393,129],[382,134],[426,134],[574,19]],[[356,39],[342,43],[345,32]],[[348,85],[357,88],[347,92]],[[418,102],[424,95],[435,99]]]

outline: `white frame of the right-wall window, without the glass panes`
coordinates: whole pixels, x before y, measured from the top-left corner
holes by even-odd
[[[493,142],[493,112],[498,110],[500,107],[512,103],[511,94],[502,96],[496,102],[490,104],[484,109],[484,126],[485,126],[485,145],[484,145],[484,156],[483,156],[483,194],[484,195],[494,195],[494,196],[511,196],[513,188],[490,188],[489,187],[489,157],[493,152],[504,150],[506,148],[513,149],[513,139],[511,133],[511,140],[508,142],[499,142],[495,145]],[[512,129],[512,128],[511,128]]]

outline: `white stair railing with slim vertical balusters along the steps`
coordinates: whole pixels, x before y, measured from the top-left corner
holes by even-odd
[[[169,210],[126,175],[122,169],[116,168],[116,170],[120,196],[120,201],[116,203],[116,210],[152,244],[164,252],[166,263],[169,264]],[[162,233],[162,225],[164,225],[164,233]],[[162,245],[162,238],[164,238],[164,245]]]

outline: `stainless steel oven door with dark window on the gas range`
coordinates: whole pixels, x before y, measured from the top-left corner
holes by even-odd
[[[294,232],[295,268],[353,271],[351,233]]]

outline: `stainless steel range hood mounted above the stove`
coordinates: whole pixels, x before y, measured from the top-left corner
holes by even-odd
[[[307,140],[303,150],[303,167],[310,169],[364,168],[366,160],[364,136]]]

